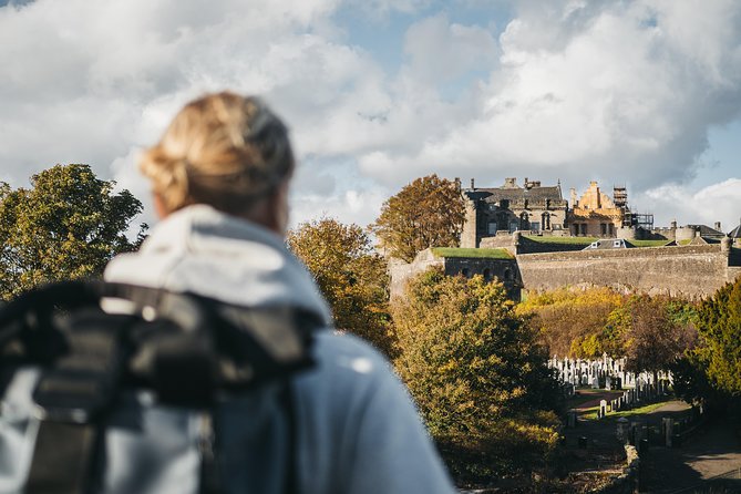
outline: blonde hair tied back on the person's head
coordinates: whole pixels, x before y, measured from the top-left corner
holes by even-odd
[[[222,92],[185,105],[140,169],[167,213],[209,204],[239,215],[290,176],[294,155],[288,130],[265,103]]]

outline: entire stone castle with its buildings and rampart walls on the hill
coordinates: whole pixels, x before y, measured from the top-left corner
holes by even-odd
[[[741,225],[728,235],[719,224],[655,228],[652,215],[630,210],[625,187],[615,187],[609,197],[591,182],[579,198],[570,191],[572,207],[560,184],[528,179],[519,186],[506,178],[503,186],[490,188],[472,181],[461,194],[466,207],[461,248],[426,249],[411,264],[392,260],[392,296],[430,266],[447,275],[496,278],[513,299],[522,290],[563,286],[698,299],[741,276]],[[578,237],[591,238],[579,243]],[[589,244],[594,238],[605,240]]]

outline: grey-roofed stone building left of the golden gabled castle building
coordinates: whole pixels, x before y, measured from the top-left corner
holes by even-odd
[[[472,179],[471,187],[461,193],[466,199],[461,247],[481,247],[485,238],[516,230],[566,228],[568,203],[562,196],[560,183],[542,186],[541,182],[525,178],[519,186],[516,178],[505,178],[501,187],[477,188]]]

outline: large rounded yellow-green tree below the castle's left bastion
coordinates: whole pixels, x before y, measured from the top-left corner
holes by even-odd
[[[543,466],[558,439],[557,383],[504,287],[431,269],[392,315],[394,364],[459,482]]]

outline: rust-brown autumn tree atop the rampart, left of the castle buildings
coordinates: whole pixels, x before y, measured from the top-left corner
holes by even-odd
[[[428,247],[460,245],[464,207],[457,184],[430,175],[383,203],[371,229],[391,257],[411,263]]]

